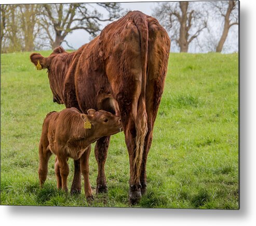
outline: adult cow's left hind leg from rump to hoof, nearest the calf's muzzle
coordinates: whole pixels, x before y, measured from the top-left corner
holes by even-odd
[[[123,42],[118,42],[120,48],[115,48],[116,52],[113,53],[113,57],[108,59],[106,74],[118,103],[129,154],[129,202],[136,204],[141,199],[139,171],[147,130],[145,94],[142,91],[145,87],[145,78],[142,75],[143,57],[138,27],[134,23],[129,23],[123,32],[126,34],[122,34],[120,40],[122,37],[126,38],[122,40]]]

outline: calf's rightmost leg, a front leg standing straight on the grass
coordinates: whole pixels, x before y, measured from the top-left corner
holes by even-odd
[[[84,152],[84,154],[80,157],[80,166],[81,171],[84,177],[84,189],[85,189],[85,197],[87,201],[93,199],[91,185],[89,182],[89,156],[91,152],[91,146],[88,146]]]

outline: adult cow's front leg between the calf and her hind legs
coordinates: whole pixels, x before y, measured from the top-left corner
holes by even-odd
[[[107,192],[105,162],[107,157],[107,149],[109,148],[110,137],[100,138],[95,145],[95,158],[98,163],[98,176],[96,193]]]

